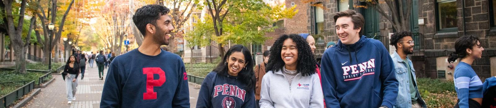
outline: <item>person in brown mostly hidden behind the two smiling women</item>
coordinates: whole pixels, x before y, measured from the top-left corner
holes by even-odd
[[[261,64],[258,64],[257,66],[255,66],[255,81],[256,81],[256,84],[255,84],[255,99],[256,99],[256,108],[260,108],[260,104],[258,104],[260,102],[260,90],[261,90],[261,85],[262,85],[262,78],[263,78],[263,75],[265,75],[266,71],[265,71],[265,66],[267,65],[267,63],[269,63],[269,55],[270,55],[270,51],[264,51],[263,52],[263,62]]]

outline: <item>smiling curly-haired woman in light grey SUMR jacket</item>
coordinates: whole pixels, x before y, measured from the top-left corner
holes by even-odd
[[[270,49],[262,79],[260,108],[323,108],[320,79],[308,42],[282,35]]]

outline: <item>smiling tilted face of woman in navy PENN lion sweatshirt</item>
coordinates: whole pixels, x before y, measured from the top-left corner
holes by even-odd
[[[227,59],[228,73],[232,76],[238,76],[238,73],[248,64],[242,52],[233,52]]]

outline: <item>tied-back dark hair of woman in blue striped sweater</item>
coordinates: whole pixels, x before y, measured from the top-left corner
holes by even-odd
[[[449,54],[448,62],[453,63],[458,58],[465,58],[468,56],[467,48],[472,49],[474,45],[477,45],[479,37],[476,36],[462,36],[456,39],[455,42],[455,52]]]

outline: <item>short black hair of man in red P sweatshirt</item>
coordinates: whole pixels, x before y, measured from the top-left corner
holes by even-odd
[[[160,19],[160,16],[166,15],[170,12],[169,8],[158,5],[158,4],[149,4],[145,5],[141,8],[138,8],[134,15],[132,16],[132,22],[138,28],[139,32],[143,36],[146,33],[146,25],[152,24],[157,26],[157,20]]]

